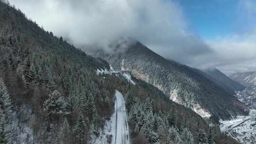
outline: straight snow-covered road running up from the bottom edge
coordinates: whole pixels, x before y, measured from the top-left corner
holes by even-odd
[[[130,144],[128,118],[126,114],[125,101],[123,95],[116,90],[115,113],[112,127],[114,132],[111,144]]]

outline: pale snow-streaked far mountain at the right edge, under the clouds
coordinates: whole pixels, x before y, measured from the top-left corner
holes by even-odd
[[[234,81],[249,87],[256,83],[256,72],[238,72],[230,76]]]

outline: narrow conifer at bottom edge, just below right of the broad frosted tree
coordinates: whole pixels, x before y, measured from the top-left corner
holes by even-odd
[[[71,135],[70,126],[68,124],[67,118],[65,117],[60,130],[60,144],[68,144],[69,136]]]

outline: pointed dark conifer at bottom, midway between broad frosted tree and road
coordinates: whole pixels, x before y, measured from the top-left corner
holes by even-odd
[[[86,141],[86,130],[86,123],[83,120],[82,115],[80,115],[76,121],[76,125],[74,126],[74,134],[76,136],[78,144],[84,144],[84,142]]]

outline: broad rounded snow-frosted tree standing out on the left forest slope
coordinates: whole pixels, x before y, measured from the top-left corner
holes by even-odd
[[[59,116],[69,114],[67,100],[61,96],[58,90],[49,95],[49,99],[44,102],[44,111],[49,120],[58,120]]]

